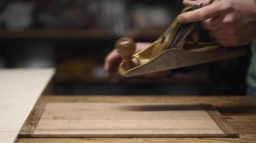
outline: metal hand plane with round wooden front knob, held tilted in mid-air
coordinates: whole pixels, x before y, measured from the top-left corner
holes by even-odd
[[[201,6],[187,6],[183,12],[200,9]],[[133,77],[157,71],[203,64],[211,61],[244,56],[244,47],[223,48],[214,42],[200,42],[195,31],[196,23],[182,24],[177,19],[147,49],[134,54],[135,41],[124,37],[116,41],[115,48],[123,57],[119,74]],[[189,37],[192,37],[189,41]]]

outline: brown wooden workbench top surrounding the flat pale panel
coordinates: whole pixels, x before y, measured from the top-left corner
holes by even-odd
[[[110,97],[110,96],[43,96],[29,115],[21,133],[36,122],[47,102],[168,102],[212,104],[232,124],[239,138],[19,138],[19,143],[99,143],[99,142],[256,142],[256,97]]]

